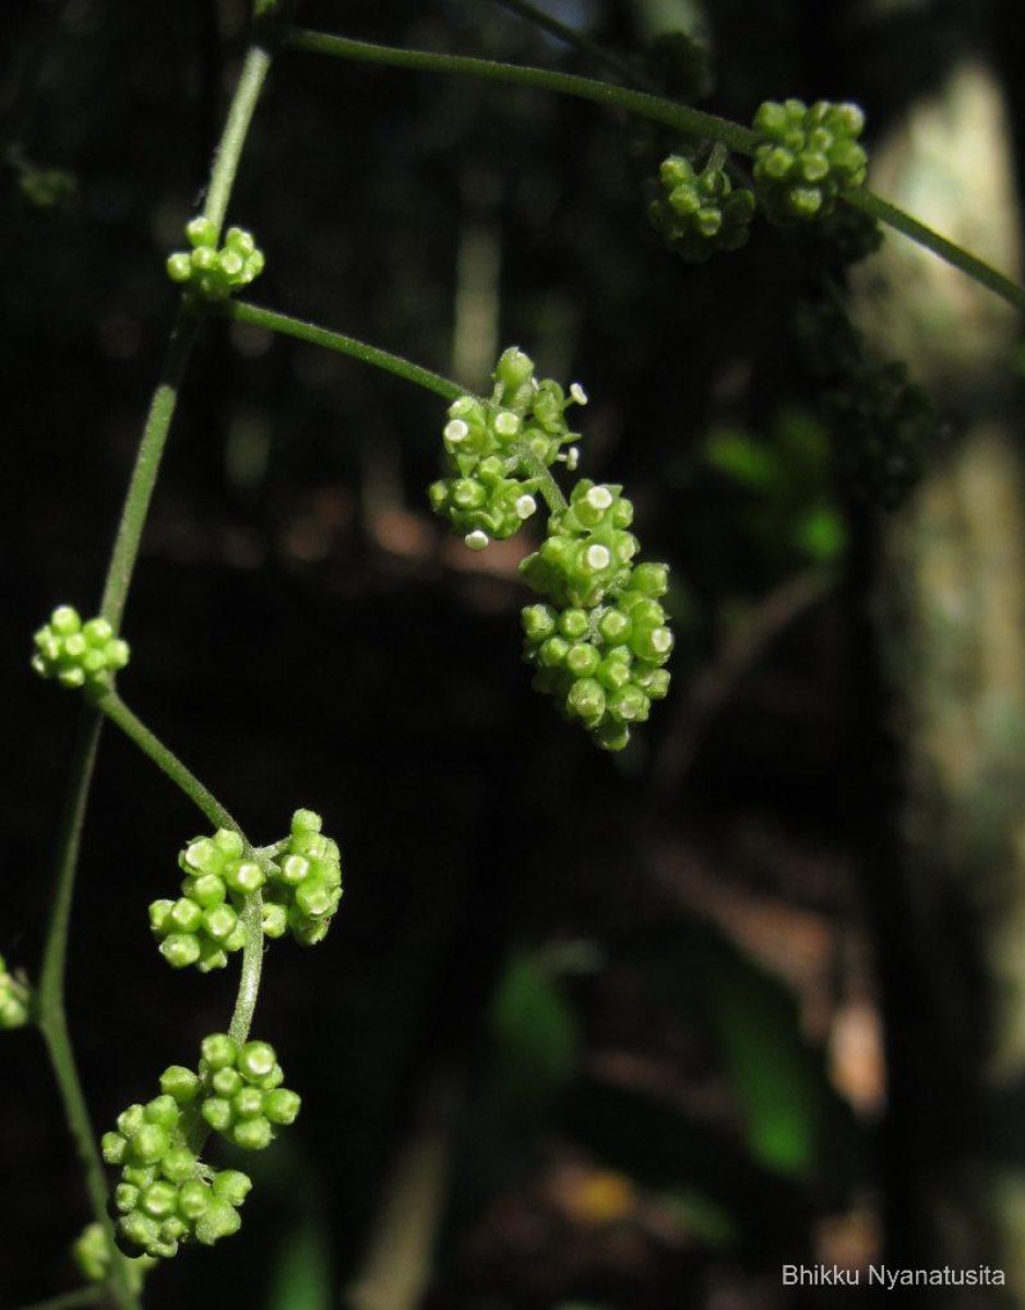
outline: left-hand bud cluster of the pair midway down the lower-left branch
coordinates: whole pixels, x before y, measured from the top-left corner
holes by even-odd
[[[176,969],[189,964],[203,973],[222,969],[228,955],[245,946],[244,900],[263,886],[266,874],[246,857],[240,834],[228,828],[193,838],[178,865],[185,870],[182,895],[149,907],[160,954]]]

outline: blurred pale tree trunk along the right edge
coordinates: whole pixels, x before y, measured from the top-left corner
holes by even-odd
[[[1018,214],[997,84],[957,67],[877,145],[872,185],[1011,275]],[[883,278],[880,278],[880,272]],[[900,237],[859,318],[952,419],[881,524],[873,618],[902,757],[899,883],[877,879],[886,992],[890,1258],[1000,1267],[1025,1306],[1025,445],[1016,314]],[[872,824],[873,817],[862,821]],[[880,871],[877,871],[880,872]]]

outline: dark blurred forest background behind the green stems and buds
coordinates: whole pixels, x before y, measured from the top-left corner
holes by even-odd
[[[767,97],[826,96],[880,132],[966,50],[1012,58],[1011,4],[701,8],[703,103],[745,122]],[[638,60],[670,10],[558,8]],[[303,21],[606,75],[485,3],[309,0]],[[0,12],[0,951],[30,973],[77,707],[30,675],[29,635],[58,603],[96,605],[173,314],[164,258],[242,43],[232,0]],[[999,69],[1020,117],[1020,68]],[[645,555],[672,565],[674,690],[621,757],[596,752],[530,689],[518,549],[471,558],[426,512],[443,405],[204,328],[121,686],[256,841],[321,811],[346,895],[322,946],[266,963],[254,1031],[300,1120],[253,1162],[242,1233],[153,1276],[147,1305],[338,1303],[417,1132],[448,1169],[408,1197],[436,1238],[431,1310],[797,1305],[781,1263],[881,1258],[878,774],[855,768],[878,743],[845,571],[877,511],[831,474],[790,331],[813,255],[765,227],[700,269],[665,252],[644,198],[671,145],[519,88],[300,55],[271,72],[229,214],[267,255],[253,299],[447,373],[460,245],[485,232],[499,345],[587,386],[582,470],[625,485]],[[38,169],[72,179],[58,203]],[[769,473],[738,473],[724,434]],[[106,731],[69,956],[98,1131],[227,1022],[233,971],[172,973],[145,927],[202,828]],[[88,1209],[41,1041],[5,1035],[0,1061],[14,1307],[76,1285],[64,1252]]]

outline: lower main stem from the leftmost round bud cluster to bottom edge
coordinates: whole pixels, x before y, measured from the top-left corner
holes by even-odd
[[[89,1119],[89,1108],[81,1089],[75,1051],[68,1034],[64,1007],[64,975],[67,972],[68,927],[71,903],[75,892],[75,871],[81,848],[81,832],[89,799],[89,787],[100,744],[101,718],[87,706],[79,728],[79,743],[71,770],[71,785],[64,803],[64,815],[58,842],[58,867],[50,917],[46,925],[43,959],[39,969],[39,989],[35,997],[35,1018],[42,1032],[50,1064],[54,1069],[64,1117],[71,1131],[75,1151],[85,1175],[85,1187],[93,1213],[107,1238],[111,1252],[111,1292],[121,1310],[138,1310],[139,1301],[128,1284],[125,1258],[114,1244],[114,1225],[106,1212],[106,1178],[96,1145],[96,1133]]]

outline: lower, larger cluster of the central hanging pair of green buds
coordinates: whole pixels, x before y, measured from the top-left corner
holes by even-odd
[[[632,723],[668,690],[662,667],[672,633],[659,597],[665,565],[634,565],[627,531],[633,507],[617,486],[582,478],[568,508],[553,515],[541,546],[520,565],[548,604],[523,612],[524,659],[533,686],[554,696],[608,751],[621,751]]]

